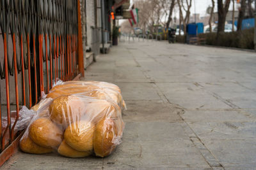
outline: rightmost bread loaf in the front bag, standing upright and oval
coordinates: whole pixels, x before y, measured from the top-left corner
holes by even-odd
[[[115,121],[112,119],[102,119],[97,124],[93,136],[93,150],[98,157],[108,156],[116,147],[113,138],[118,134]]]

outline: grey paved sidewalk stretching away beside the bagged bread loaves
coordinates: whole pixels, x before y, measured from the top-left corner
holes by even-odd
[[[120,43],[85,80],[116,83],[123,143],[104,159],[17,153],[3,169],[255,169],[256,56],[163,41]]]

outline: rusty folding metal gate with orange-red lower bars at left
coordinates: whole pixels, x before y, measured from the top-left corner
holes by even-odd
[[[14,131],[20,106],[31,108],[58,78],[79,73],[77,2],[0,0],[0,165],[20,133]]]

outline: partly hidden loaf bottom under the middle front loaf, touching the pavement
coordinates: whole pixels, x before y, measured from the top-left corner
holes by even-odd
[[[67,145],[65,140],[63,140],[61,142],[61,145],[58,148],[58,153],[60,153],[60,155],[63,155],[65,157],[81,158],[81,157],[87,157],[87,156],[91,155],[92,151],[79,152],[79,151],[74,150],[73,148],[71,148],[69,145]]]

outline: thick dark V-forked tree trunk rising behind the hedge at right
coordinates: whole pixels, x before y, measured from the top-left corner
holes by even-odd
[[[225,4],[223,4],[223,0],[218,0],[218,36],[220,32],[224,32],[225,30],[225,21],[231,0],[225,0]]]

